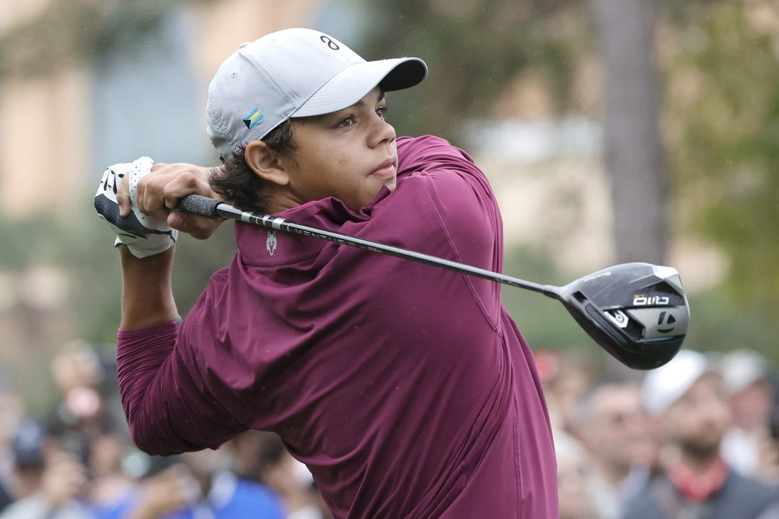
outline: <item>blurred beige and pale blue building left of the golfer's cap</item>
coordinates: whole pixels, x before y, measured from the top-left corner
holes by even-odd
[[[98,11],[118,5],[91,3]],[[217,66],[243,41],[315,24],[322,2],[158,3],[173,7],[152,41],[130,42],[90,63],[74,61],[45,75],[11,71],[0,83],[2,216],[65,215],[109,163],[140,155],[211,160],[203,110],[196,108],[205,107]],[[0,0],[0,33],[66,5]]]

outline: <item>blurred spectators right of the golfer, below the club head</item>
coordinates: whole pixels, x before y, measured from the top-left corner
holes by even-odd
[[[647,372],[537,352],[561,519],[777,519],[777,377],[749,349]]]

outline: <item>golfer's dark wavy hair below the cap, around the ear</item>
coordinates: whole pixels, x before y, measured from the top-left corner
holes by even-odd
[[[279,156],[294,157],[298,148],[292,140],[292,126],[292,122],[287,119],[273,128],[263,142]],[[268,196],[265,190],[266,181],[263,181],[246,163],[245,151],[245,148],[241,148],[238,153],[224,161],[223,167],[214,168],[209,177],[209,184],[213,191],[224,199],[224,202],[238,209],[266,212]]]

